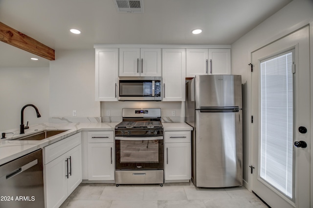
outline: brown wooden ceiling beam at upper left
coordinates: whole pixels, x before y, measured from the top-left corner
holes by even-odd
[[[54,50],[41,42],[0,22],[0,41],[28,51],[47,60],[55,60]]]

